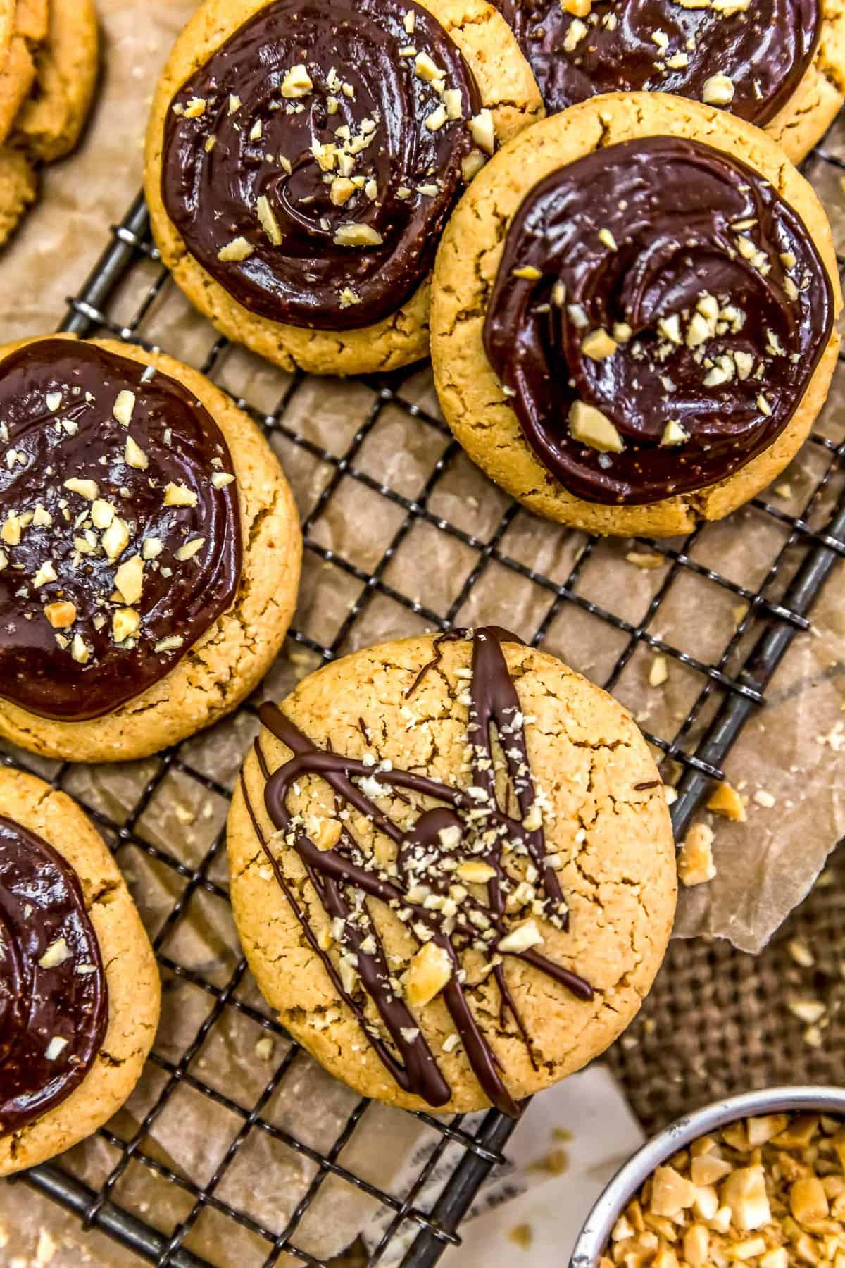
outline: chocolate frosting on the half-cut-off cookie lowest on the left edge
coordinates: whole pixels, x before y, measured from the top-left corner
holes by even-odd
[[[0,1134],[65,1101],[106,1027],[105,973],[76,874],[0,815]]]

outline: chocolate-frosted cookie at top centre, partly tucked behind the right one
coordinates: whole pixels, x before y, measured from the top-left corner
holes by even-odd
[[[218,328],[286,369],[402,365],[427,351],[457,198],[541,113],[484,0],[205,0],[149,122],[156,240]]]

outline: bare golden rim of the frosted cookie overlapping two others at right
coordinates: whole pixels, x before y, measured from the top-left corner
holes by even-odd
[[[435,268],[432,359],[441,406],[457,440],[492,479],[526,506],[593,533],[668,536],[689,531],[701,519],[721,519],[783,470],[823,404],[839,336],[834,328],[785,427],[734,474],[694,492],[626,506],[578,498],[555,479],[526,441],[484,349],[485,318],[505,237],[530,190],[543,179],[606,147],[647,137],[706,143],[741,160],[770,183],[803,222],[830,279],[834,313],[839,313],[841,293],[827,218],[779,146],[740,119],[682,98],[609,94],[517,137],[467,190],[446,230]],[[619,337],[628,337],[627,332]],[[609,340],[608,350],[614,346]],[[606,350],[598,349],[598,356],[603,355]]]

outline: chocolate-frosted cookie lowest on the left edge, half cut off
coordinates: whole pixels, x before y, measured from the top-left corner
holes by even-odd
[[[158,973],[92,824],[63,792],[0,768],[0,1175],[90,1135],[136,1085]]]

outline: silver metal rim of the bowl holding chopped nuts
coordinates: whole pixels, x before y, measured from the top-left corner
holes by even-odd
[[[803,1111],[845,1117],[845,1088],[787,1087],[744,1092],[727,1101],[717,1101],[703,1110],[685,1115],[647,1141],[642,1149],[616,1173],[587,1217],[575,1243],[570,1268],[595,1268],[611,1240],[611,1231],[628,1202],[636,1197],[651,1173],[673,1154],[692,1145],[737,1118],[759,1115]]]

